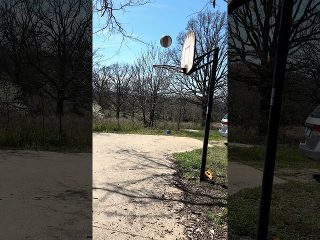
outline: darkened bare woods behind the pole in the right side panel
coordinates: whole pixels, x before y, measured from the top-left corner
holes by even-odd
[[[254,128],[256,135],[266,134],[281,4],[247,1],[228,14],[231,129]],[[308,113],[320,104],[319,10],[318,0],[294,0],[280,125],[301,126],[298,137]],[[229,136],[236,138],[236,132]]]

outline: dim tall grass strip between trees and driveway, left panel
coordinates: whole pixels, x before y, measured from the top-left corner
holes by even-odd
[[[10,120],[7,127],[0,119],[0,146],[2,149],[29,149],[49,151],[92,151],[91,118],[65,115],[62,133],[55,115],[21,117]]]

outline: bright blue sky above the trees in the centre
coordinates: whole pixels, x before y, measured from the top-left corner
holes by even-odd
[[[127,32],[133,31],[134,35],[139,36],[145,42],[156,41],[156,45],[159,46],[162,35],[171,36],[171,46],[174,46],[178,32],[184,30],[188,19],[196,15],[192,13],[200,11],[208,2],[208,0],[151,1],[153,2],[142,6],[129,6],[124,14],[123,11],[118,11],[115,16],[119,22],[126,23],[124,28]],[[114,2],[119,2],[119,0],[114,0]],[[227,3],[223,0],[216,0],[214,9],[212,3],[207,6],[211,10],[226,11],[227,9]],[[93,15],[93,32],[98,29],[97,27],[99,27],[98,17]],[[100,46],[99,53],[104,55],[103,59],[106,59],[119,50],[121,39],[121,36],[105,39],[101,33],[93,34],[92,46],[93,48]],[[119,53],[109,60],[104,60],[103,64],[109,65],[116,61],[133,63],[135,55],[138,55],[144,48],[145,44],[141,42],[129,41],[128,47],[122,44]]]

